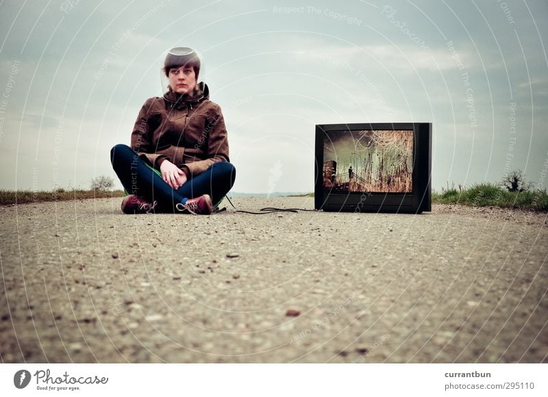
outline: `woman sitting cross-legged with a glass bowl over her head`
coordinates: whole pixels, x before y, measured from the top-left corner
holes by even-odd
[[[171,49],[164,62],[168,92],[142,106],[131,147],[117,144],[110,151],[129,193],[122,201],[125,214],[212,214],[234,185],[221,107],[209,100],[208,86],[197,83],[199,71],[194,50]]]

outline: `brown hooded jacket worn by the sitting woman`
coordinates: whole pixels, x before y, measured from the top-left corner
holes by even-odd
[[[209,100],[208,86],[200,83],[192,97],[169,91],[147,99],[135,122],[132,149],[156,169],[169,159],[188,179],[216,162],[229,162],[225,120],[221,107]]]

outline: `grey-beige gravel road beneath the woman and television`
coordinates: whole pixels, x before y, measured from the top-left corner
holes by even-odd
[[[120,202],[0,207],[1,361],[548,362],[547,214]]]

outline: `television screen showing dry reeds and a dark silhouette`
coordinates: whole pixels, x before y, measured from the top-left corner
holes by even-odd
[[[323,140],[323,189],[411,193],[412,130],[328,131]]]

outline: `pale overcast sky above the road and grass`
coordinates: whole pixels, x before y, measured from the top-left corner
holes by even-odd
[[[175,46],[202,55],[236,192],[312,192],[316,124],[410,121],[434,124],[436,190],[545,187],[547,20],[545,0],[2,1],[0,188],[116,177]]]

